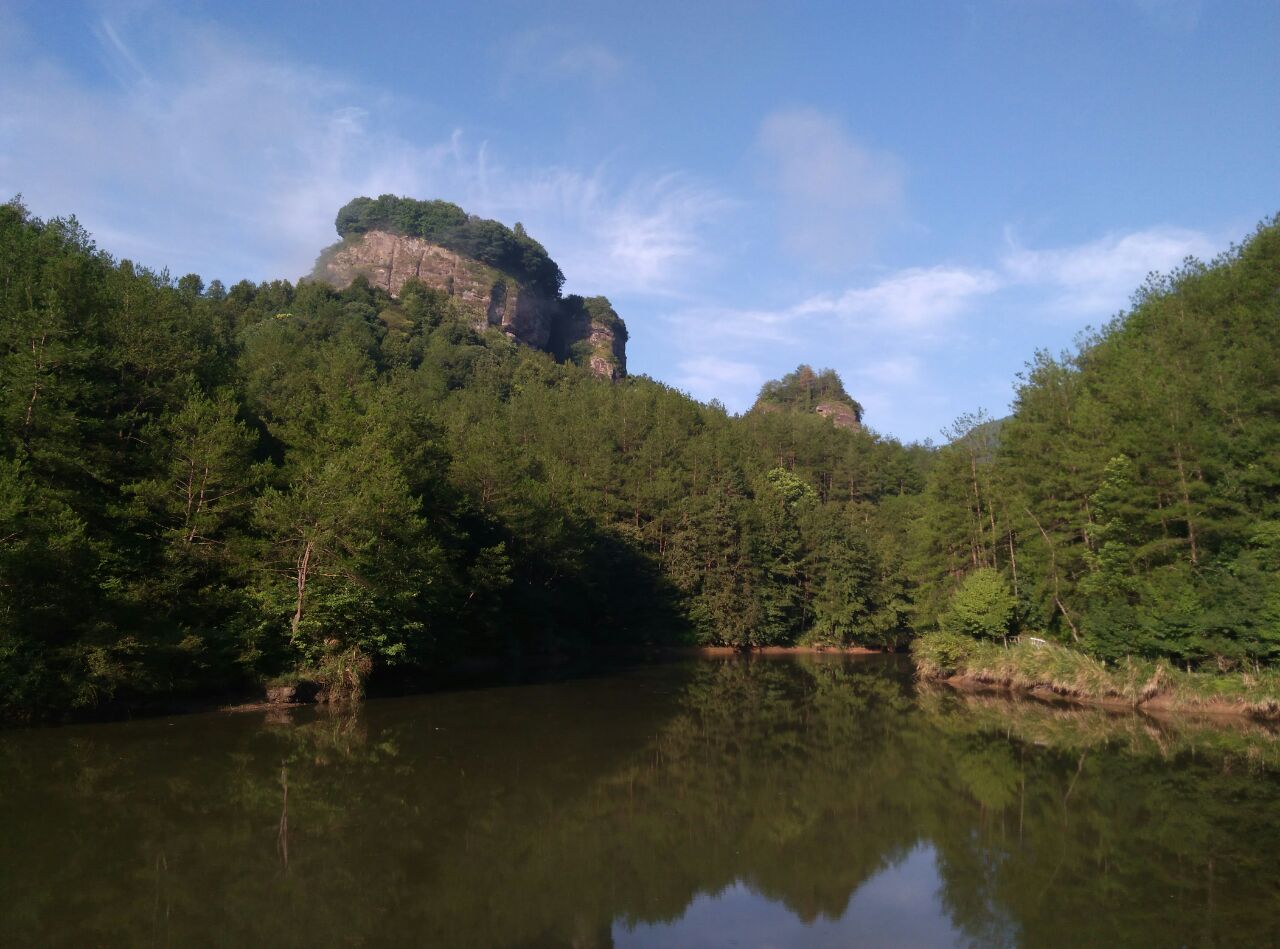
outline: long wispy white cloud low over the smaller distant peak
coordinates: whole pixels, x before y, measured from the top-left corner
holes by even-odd
[[[685,353],[681,384],[699,397],[717,394],[740,411],[762,379],[797,362],[829,365],[872,425],[918,432],[922,414],[954,403],[952,368],[970,366],[966,396],[998,409],[1020,360],[1065,316],[1102,321],[1149,272],[1208,257],[1217,246],[1198,231],[1166,227],[1052,248],[1006,234],[989,266],[905,268],[774,307],[689,306],[667,320]],[[1011,334],[1028,338],[1024,352],[1005,353],[1012,364],[972,368],[975,353],[1004,352]]]

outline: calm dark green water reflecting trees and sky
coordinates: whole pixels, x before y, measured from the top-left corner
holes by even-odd
[[[1275,738],[701,661],[0,734],[0,944],[1280,945]]]

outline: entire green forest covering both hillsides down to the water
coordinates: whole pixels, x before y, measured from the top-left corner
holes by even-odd
[[[411,224],[477,220],[452,207]],[[349,209],[340,233],[394,213]],[[479,333],[422,284],[173,279],[14,200],[0,708],[922,634],[1261,669],[1280,658],[1277,374],[1280,220],[1036,353],[1010,418],[934,447],[810,411],[858,406],[835,373],[801,366],[735,416]]]

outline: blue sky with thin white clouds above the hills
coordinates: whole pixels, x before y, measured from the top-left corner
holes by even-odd
[[[522,222],[628,369],[877,432],[1004,415],[1151,272],[1280,211],[1275,0],[0,0],[0,200],[297,279],[357,195]]]

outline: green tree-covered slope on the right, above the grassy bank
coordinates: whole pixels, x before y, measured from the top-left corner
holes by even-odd
[[[1280,222],[1037,353],[1001,425],[961,419],[913,512],[916,624],[986,606],[1102,660],[1280,658]],[[959,602],[948,604],[956,592]]]

